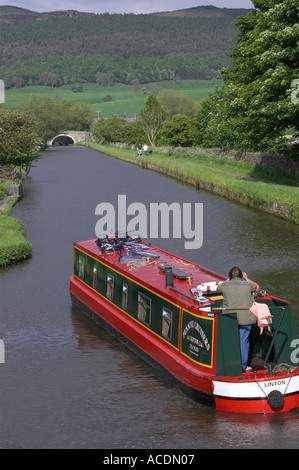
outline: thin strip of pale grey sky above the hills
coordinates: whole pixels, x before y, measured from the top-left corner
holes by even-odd
[[[152,13],[214,5],[225,8],[253,8],[250,0],[0,0],[0,5],[13,5],[44,12],[78,10],[90,13]]]

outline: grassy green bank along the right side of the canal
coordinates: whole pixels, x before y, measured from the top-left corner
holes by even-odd
[[[80,144],[82,145],[82,144]],[[219,158],[220,167],[211,167],[210,156],[198,159],[188,154],[172,152],[165,155],[155,149],[148,156],[136,156],[136,150],[128,147],[101,145],[95,142],[84,144],[114,158],[158,171],[172,178],[205,189],[233,201],[269,212],[278,217],[299,224],[299,188],[276,181],[265,181],[254,175],[254,165],[225,165],[225,157]],[[222,162],[230,170],[221,168]],[[278,174],[278,173],[277,173]],[[286,175],[287,176],[287,175]]]

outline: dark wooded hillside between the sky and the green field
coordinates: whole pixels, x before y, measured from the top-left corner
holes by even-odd
[[[233,22],[248,11],[196,7],[139,15],[36,13],[1,6],[0,76],[7,88],[105,79],[210,79],[230,65],[228,53],[238,31]]]

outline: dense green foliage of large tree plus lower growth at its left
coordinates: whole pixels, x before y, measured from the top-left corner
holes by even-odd
[[[233,67],[222,73],[197,115],[199,144],[235,149],[283,147],[288,127],[299,131],[298,103],[291,99],[299,70],[297,0],[254,1],[258,8],[237,23]],[[203,123],[206,125],[203,125]]]

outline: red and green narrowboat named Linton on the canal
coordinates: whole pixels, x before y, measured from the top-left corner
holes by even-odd
[[[138,237],[106,236],[74,243],[69,289],[79,310],[200,402],[235,413],[298,411],[299,340],[290,303],[255,294],[270,309],[272,331],[253,326],[252,371],[242,373],[236,314],[224,313],[216,290],[225,279]]]

